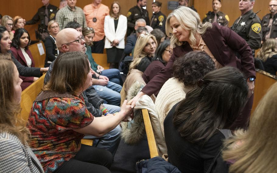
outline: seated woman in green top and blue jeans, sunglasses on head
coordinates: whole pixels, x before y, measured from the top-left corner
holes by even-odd
[[[85,38],[86,41],[86,55],[88,55],[89,62],[91,65],[91,68],[93,71],[97,72],[98,74],[101,74],[103,76],[107,76],[109,78],[109,81],[113,83],[117,83],[122,85],[123,81],[121,79],[121,75],[118,69],[104,69],[101,65],[98,65],[93,57],[92,57],[92,52],[91,52],[91,46],[93,44],[93,37],[94,37],[94,29],[86,27],[82,30],[82,34]]]

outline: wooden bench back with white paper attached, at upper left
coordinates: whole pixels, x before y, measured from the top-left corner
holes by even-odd
[[[43,55],[40,55],[40,52],[39,52],[38,47],[37,47],[37,45],[40,44],[40,43],[42,44],[43,49],[44,49],[44,54]],[[32,44],[32,45],[29,46],[29,49],[30,49],[30,51],[32,53],[32,56],[34,58],[35,67],[40,67],[40,68],[44,67],[46,54],[45,54],[45,47],[44,47],[43,42],[40,41],[38,43]]]

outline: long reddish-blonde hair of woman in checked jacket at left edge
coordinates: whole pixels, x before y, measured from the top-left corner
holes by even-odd
[[[0,132],[10,132],[23,144],[30,139],[25,121],[19,116],[20,104],[14,102],[14,63],[0,55]]]

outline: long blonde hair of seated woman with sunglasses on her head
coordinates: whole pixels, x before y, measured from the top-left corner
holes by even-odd
[[[146,35],[144,37],[140,37],[140,36],[138,37],[136,45],[135,45],[135,49],[134,49],[134,56],[133,56],[134,58],[130,64],[129,70],[135,69],[136,66],[140,63],[141,59],[147,56],[146,52],[143,51],[143,49],[146,46],[146,44],[150,38],[152,38],[154,40],[154,42],[157,46],[156,37],[153,36],[152,34]]]

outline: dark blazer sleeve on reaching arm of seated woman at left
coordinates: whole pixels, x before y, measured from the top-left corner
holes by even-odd
[[[13,55],[12,55],[12,61],[16,65],[16,68],[17,68],[20,76],[25,76],[25,77],[32,77],[32,76],[34,76],[34,77],[40,77],[40,68],[25,67],[24,65],[20,64],[20,62],[18,62]]]

